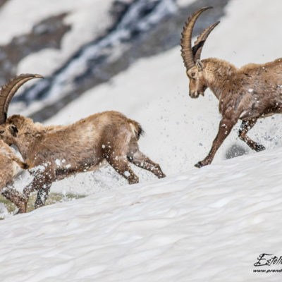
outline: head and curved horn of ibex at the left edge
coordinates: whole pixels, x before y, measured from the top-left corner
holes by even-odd
[[[6,85],[2,86],[0,91],[0,137],[8,145],[13,144],[13,139],[18,135],[18,126],[21,116],[12,116],[7,120],[8,106],[16,94],[17,90],[28,80],[32,78],[43,78],[42,75],[21,74],[11,78]]]

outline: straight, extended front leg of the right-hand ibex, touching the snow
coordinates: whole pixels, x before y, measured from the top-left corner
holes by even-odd
[[[231,129],[233,128],[233,126],[235,125],[237,121],[238,121],[237,119],[227,119],[227,118],[221,119],[221,122],[219,123],[219,132],[217,133],[216,138],[214,139],[214,142],[212,143],[212,149],[209,151],[209,154],[207,155],[205,159],[195,164],[197,168],[200,168],[202,166],[207,166],[207,164],[212,163],[212,160],[214,159],[214,155],[216,154],[216,151],[219,149],[222,142],[231,132]]]

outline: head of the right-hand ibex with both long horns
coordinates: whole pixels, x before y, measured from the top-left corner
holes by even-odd
[[[192,98],[199,97],[200,94],[204,96],[204,90],[207,89],[207,83],[204,78],[204,64],[200,60],[202,47],[204,46],[204,42],[206,41],[209,33],[212,32],[214,27],[219,24],[219,21],[210,25],[207,29],[205,29],[202,34],[195,41],[194,46],[191,46],[191,38],[193,27],[196,23],[197,18],[203,11],[212,7],[204,7],[200,8],[195,13],[192,13],[185,23],[182,32],[181,38],[181,55],[183,57],[183,62],[186,67],[186,74],[190,79],[189,84],[189,95]]]

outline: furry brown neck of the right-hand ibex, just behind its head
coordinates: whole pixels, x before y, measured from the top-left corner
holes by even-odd
[[[214,58],[203,60],[202,63],[207,87],[219,99],[226,83],[234,78],[237,68],[231,63]]]

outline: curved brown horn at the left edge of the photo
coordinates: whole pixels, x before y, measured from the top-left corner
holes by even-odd
[[[30,73],[21,74],[11,78],[6,85],[3,85],[0,90],[0,124],[5,123],[7,119],[8,105],[17,92],[18,88],[32,78],[43,78],[42,75],[34,75]]]

